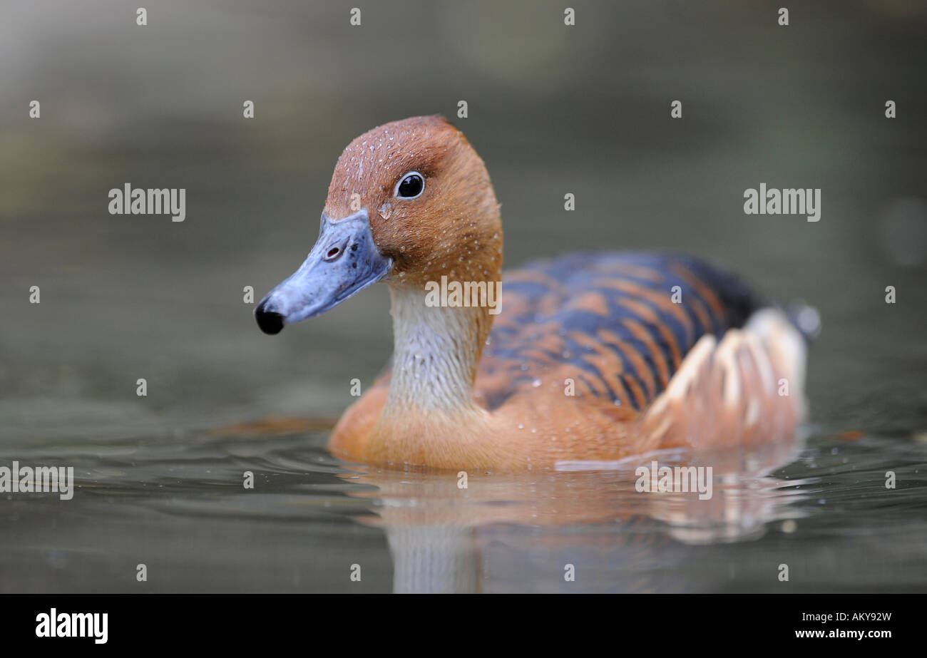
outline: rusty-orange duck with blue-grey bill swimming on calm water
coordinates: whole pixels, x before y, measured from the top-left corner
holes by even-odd
[[[349,462],[550,470],[790,441],[806,413],[808,332],[715,264],[618,251],[502,272],[489,171],[440,116],[350,142],[314,246],[255,318],[276,335],[377,282],[394,349],[329,438]]]

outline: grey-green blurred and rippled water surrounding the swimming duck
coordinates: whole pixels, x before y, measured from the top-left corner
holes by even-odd
[[[150,32],[104,1],[61,3],[52,22],[5,6],[0,464],[72,465],[78,488],[0,498],[0,591],[927,588],[925,15],[818,6],[783,37],[763,6],[677,5],[580,11],[571,38],[492,3],[410,4],[396,11],[421,29],[400,41],[373,7],[361,35],[302,3],[165,3]],[[414,83],[397,86],[399,61]],[[452,115],[461,95],[508,267],[666,247],[819,309],[794,446],[727,455],[707,504],[638,494],[631,467],[461,489],[327,454],[351,379],[368,386],[387,360],[386,291],[269,337],[243,288],[260,299],[304,259],[352,137]],[[676,96],[684,119],[668,123]],[[893,96],[903,113],[885,120]],[[22,111],[32,97],[41,120]],[[125,182],[186,188],[186,220],[109,215]],[[744,216],[761,182],[822,188],[821,221]]]

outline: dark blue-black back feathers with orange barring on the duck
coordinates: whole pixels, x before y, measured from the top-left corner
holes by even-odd
[[[683,255],[570,254],[502,274],[502,312],[483,352],[486,406],[573,374],[578,393],[640,411],[703,335],[762,306],[738,277]]]

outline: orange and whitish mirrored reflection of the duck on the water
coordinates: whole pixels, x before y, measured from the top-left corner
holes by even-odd
[[[795,441],[697,458],[662,451],[527,474],[358,466],[341,477],[376,487],[349,495],[371,501],[372,512],[354,518],[384,530],[395,592],[494,591],[513,572],[530,580],[520,590],[585,591],[594,587],[571,583],[569,569],[590,563],[610,576],[627,571],[610,578],[619,583],[610,590],[689,591],[711,584],[692,569],[686,570],[690,582],[661,584],[660,566],[689,559],[689,547],[760,538],[769,524],[800,515],[791,503],[804,498],[796,487],[806,482],[768,475],[792,462],[798,449]],[[641,491],[640,469],[654,461],[710,467],[710,497],[697,490]]]

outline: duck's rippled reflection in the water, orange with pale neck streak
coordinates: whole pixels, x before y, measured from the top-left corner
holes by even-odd
[[[662,522],[668,538],[682,544],[760,538],[770,522],[802,515],[790,502],[802,500],[794,487],[808,481],[765,476],[791,462],[797,449],[796,443],[777,444],[749,453],[703,453],[697,460],[681,451],[662,451],[609,464],[608,470],[597,470],[602,464],[571,462],[568,470],[552,473],[467,474],[465,487],[463,474],[456,473],[365,470],[342,477],[376,487],[349,495],[379,503],[374,513],[355,518],[385,530],[395,592],[482,592],[487,590],[485,531],[493,525],[539,529],[531,550],[561,553],[567,561],[571,529],[611,537],[593,544],[617,551],[612,559],[620,560],[622,550],[633,552],[636,563],[641,563],[640,539],[647,537],[641,534],[641,521]],[[703,500],[698,491],[639,492],[636,469],[654,460],[661,466],[711,466],[711,497]],[[555,532],[544,533],[545,529]],[[658,537],[653,530],[648,534],[651,539]],[[649,563],[660,563],[661,551],[677,550],[672,542],[647,544]],[[585,551],[574,552],[577,562]],[[563,574],[565,564],[552,569]],[[583,566],[574,563],[576,570]],[[633,587],[647,589],[640,581]],[[678,587],[686,588],[679,583]]]

